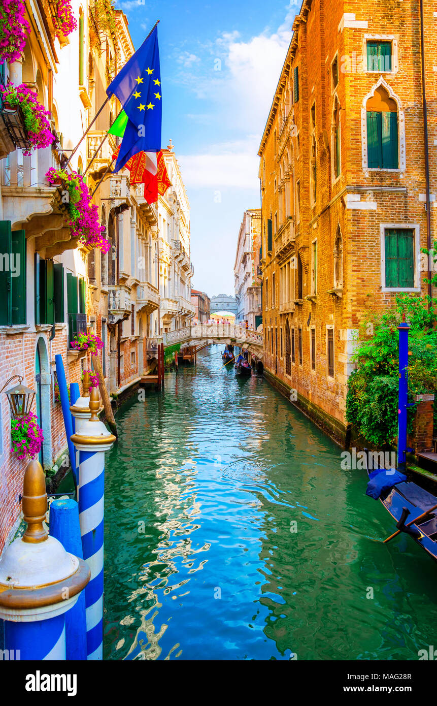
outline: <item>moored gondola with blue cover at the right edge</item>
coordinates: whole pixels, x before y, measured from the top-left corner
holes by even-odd
[[[369,459],[369,455],[367,455]],[[396,522],[397,530],[409,534],[427,554],[437,561],[437,497],[421,488],[413,481],[408,481],[404,474],[396,471],[385,472],[385,469],[369,470],[369,484],[373,486],[373,494],[366,493],[373,498],[378,498]],[[395,476],[395,473],[397,474]],[[393,481],[397,481],[393,485]],[[373,483],[372,483],[373,481]],[[378,484],[379,489],[374,489]],[[391,487],[385,489],[385,485]],[[372,490],[370,489],[370,490]],[[415,522],[414,520],[417,520]]]

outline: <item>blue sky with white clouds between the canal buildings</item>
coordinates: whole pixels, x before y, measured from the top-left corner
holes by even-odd
[[[138,49],[156,20],[162,146],[190,203],[191,285],[234,295],[243,213],[260,207],[258,148],[301,1],[117,0]]]

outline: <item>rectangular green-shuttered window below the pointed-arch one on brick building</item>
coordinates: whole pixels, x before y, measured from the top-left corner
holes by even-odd
[[[385,228],[385,287],[414,287],[414,230]]]

